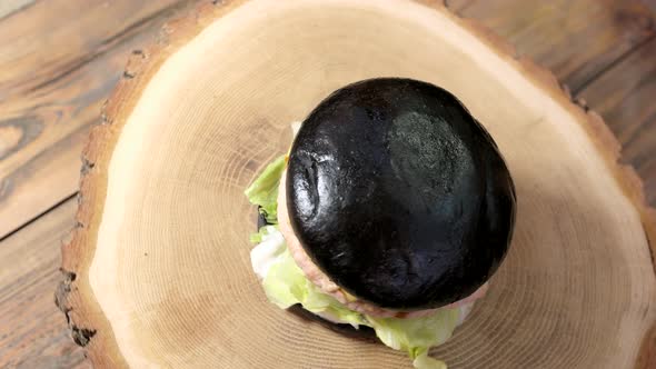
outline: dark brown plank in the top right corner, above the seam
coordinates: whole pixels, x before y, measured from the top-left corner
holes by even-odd
[[[477,0],[460,13],[551,70],[574,92],[656,32],[654,13],[639,0]]]

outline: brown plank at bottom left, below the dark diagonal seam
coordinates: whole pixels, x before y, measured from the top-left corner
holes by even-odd
[[[0,367],[89,368],[52,302],[74,199],[0,243]]]

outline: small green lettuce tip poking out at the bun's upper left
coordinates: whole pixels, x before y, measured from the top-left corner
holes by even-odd
[[[278,157],[243,191],[248,201],[260,207],[269,223],[278,223],[278,184],[286,166],[285,156]]]

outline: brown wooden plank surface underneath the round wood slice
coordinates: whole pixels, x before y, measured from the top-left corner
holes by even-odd
[[[0,367],[88,366],[52,302],[81,147],[131,50],[195,2],[0,1]],[[447,6],[602,113],[656,205],[656,0]]]

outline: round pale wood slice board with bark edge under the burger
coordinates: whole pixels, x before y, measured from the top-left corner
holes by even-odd
[[[58,303],[98,367],[404,368],[270,305],[243,189],[288,124],[356,80],[426,80],[490,131],[514,176],[514,242],[431,353],[450,368],[654,362],[656,213],[598,114],[433,1],[207,3],[132,56],[85,150]]]

